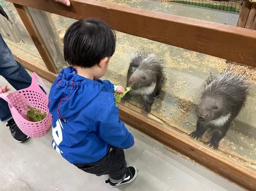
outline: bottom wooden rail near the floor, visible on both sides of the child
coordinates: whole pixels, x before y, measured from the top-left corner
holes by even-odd
[[[22,63],[26,69],[31,72],[37,72],[39,76],[50,82],[53,82],[56,79],[57,74],[47,71],[46,68],[18,55],[14,51],[12,52],[14,58]],[[164,128],[162,124],[153,121],[131,108],[125,107],[122,104],[118,104],[118,107],[120,119],[123,122],[195,160],[217,174],[239,184],[240,186],[248,190],[255,190],[255,171],[237,164],[233,160],[216,153],[199,142],[193,141],[185,134]]]

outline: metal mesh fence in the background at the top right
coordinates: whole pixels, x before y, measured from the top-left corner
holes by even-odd
[[[169,2],[193,5],[197,7],[216,9],[239,13],[243,0],[168,0]]]

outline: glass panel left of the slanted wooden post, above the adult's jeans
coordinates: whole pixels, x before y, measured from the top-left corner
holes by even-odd
[[[5,17],[0,15],[0,32],[9,48],[27,59],[45,66],[14,5],[4,0],[0,0],[0,5],[13,22],[11,25]]]

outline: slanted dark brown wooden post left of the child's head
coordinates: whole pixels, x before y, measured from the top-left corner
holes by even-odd
[[[56,73],[56,69],[54,67],[53,61],[50,57],[49,52],[47,51],[47,49],[45,48],[45,45],[43,43],[43,41],[40,39],[39,35],[37,34],[37,32],[34,29],[33,24],[31,23],[29,16],[27,15],[27,13],[24,11],[22,5],[19,4],[15,4],[14,3],[14,7],[16,8],[24,26],[26,27],[30,37],[32,38],[35,47],[37,47],[39,54],[41,55],[47,69],[50,72]]]

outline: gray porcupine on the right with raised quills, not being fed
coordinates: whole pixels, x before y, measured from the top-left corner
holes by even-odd
[[[219,75],[210,73],[204,85],[201,102],[197,106],[196,130],[190,135],[200,139],[206,129],[212,130],[208,145],[218,148],[219,141],[226,135],[231,122],[244,107],[249,94],[250,77],[246,70],[234,73],[234,66],[229,65]]]

